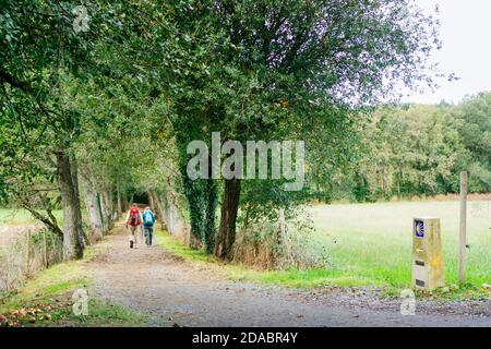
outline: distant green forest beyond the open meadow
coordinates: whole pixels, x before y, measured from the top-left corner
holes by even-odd
[[[470,173],[471,193],[491,192],[491,93],[458,105],[381,106],[354,134],[357,152],[345,168],[312,169],[320,201],[455,194],[460,171]]]

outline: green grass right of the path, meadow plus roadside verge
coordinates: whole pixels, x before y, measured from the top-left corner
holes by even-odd
[[[219,263],[230,279],[296,288],[322,286],[374,287],[387,296],[410,287],[412,217],[435,216],[442,222],[447,299],[488,298],[482,284],[491,284],[491,203],[470,202],[468,215],[467,285],[457,286],[458,203],[406,202],[357,205],[318,205],[311,208],[316,231],[314,245],[326,245],[332,267],[325,269],[258,270],[224,264],[202,251],[158,232],[159,244],[171,253],[199,263]],[[295,232],[292,232],[295,233]]]

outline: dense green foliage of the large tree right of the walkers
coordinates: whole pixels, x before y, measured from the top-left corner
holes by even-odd
[[[171,70],[168,92],[178,144],[206,141],[212,131],[224,142],[303,140],[318,155],[316,173],[325,173],[326,146],[331,166],[354,154],[354,107],[388,97],[394,81],[431,84],[428,58],[439,46],[435,20],[406,1],[187,1],[173,15],[179,45],[169,44],[176,57],[167,64],[184,63]],[[247,182],[242,212],[271,215],[306,200],[307,191],[286,193],[280,184]],[[191,215],[196,230],[207,197],[190,192],[200,205]]]

